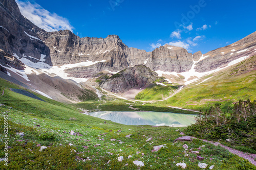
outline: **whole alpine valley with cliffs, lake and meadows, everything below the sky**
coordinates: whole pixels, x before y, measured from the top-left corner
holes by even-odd
[[[0,169],[256,169],[256,32],[190,52],[48,32],[0,0]]]

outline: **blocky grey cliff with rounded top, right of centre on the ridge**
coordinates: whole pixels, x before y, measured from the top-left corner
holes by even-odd
[[[161,71],[188,71],[193,65],[193,57],[184,48],[167,45],[160,46],[152,52],[149,67]]]

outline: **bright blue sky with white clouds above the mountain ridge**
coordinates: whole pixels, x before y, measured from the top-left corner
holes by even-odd
[[[203,54],[256,31],[256,1],[16,0],[20,11],[47,31],[80,37],[116,34],[147,52],[166,43]]]

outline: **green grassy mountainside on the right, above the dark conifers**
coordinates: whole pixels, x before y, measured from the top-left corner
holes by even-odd
[[[228,111],[230,109],[228,106],[234,101],[255,100],[255,63],[256,56],[216,72],[212,74],[213,78],[199,85],[197,82],[185,87],[162,104],[204,111],[215,103],[221,103],[222,109]],[[249,69],[250,72],[246,72]]]

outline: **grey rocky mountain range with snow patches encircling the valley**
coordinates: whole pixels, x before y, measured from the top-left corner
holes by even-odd
[[[206,54],[200,51],[191,54],[182,47],[167,44],[146,52],[128,47],[117,35],[80,38],[69,30],[46,32],[19,12],[15,0],[0,0],[0,70],[34,90],[65,102],[79,102],[79,96],[83,95],[80,90],[90,90],[90,96],[95,97],[99,86],[96,80],[101,74],[111,77],[130,71],[130,76],[122,75],[122,88],[113,82],[114,78],[100,85],[109,91],[123,93],[141,86],[127,83],[135,78],[137,65],[145,65],[139,66],[141,73],[150,69],[169,83],[188,85],[255,55],[255,46],[256,32]],[[141,80],[147,78],[144,74],[140,76]],[[146,83],[150,82],[153,80]],[[60,85],[65,83],[69,85]],[[69,86],[76,90],[66,89]]]

